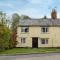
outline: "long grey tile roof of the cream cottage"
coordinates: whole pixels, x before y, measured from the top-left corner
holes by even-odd
[[[60,19],[28,19],[21,20],[20,26],[60,26]]]

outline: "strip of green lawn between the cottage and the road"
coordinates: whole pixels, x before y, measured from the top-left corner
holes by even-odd
[[[13,48],[0,52],[0,54],[31,54],[60,52],[60,48]]]

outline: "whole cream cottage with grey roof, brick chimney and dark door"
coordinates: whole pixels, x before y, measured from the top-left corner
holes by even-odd
[[[51,18],[20,20],[16,47],[60,47],[60,19],[56,10]]]

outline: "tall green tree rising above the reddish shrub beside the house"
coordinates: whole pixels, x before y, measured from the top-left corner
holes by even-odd
[[[17,13],[14,13],[12,15],[12,25],[11,25],[12,31],[15,31],[16,30],[17,25],[19,23],[19,19],[20,19],[20,16]]]

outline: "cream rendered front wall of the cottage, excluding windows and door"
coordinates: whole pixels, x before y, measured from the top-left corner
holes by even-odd
[[[42,33],[41,27],[29,27],[28,33],[21,33],[17,28],[17,47],[32,47],[32,37],[38,37],[38,47],[60,47],[60,27],[48,27],[48,33]],[[26,37],[26,43],[21,44],[21,37]],[[41,44],[41,38],[48,38],[48,44]]]

